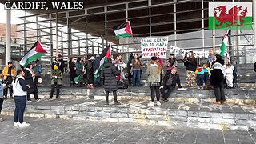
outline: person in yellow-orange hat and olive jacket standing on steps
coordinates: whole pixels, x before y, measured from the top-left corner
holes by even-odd
[[[50,74],[51,79],[51,90],[50,99],[54,96],[54,89],[56,87],[56,98],[59,98],[59,87],[62,85],[62,71],[58,69],[57,65],[54,65],[54,70]]]

